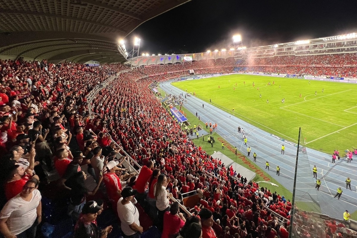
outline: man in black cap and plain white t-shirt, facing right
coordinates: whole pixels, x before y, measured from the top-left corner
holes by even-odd
[[[117,204],[117,212],[121,221],[121,230],[124,238],[140,238],[143,228],[139,222],[139,211],[131,200],[136,194],[136,189],[126,187],[121,191],[121,198]]]

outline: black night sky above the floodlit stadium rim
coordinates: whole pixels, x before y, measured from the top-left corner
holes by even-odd
[[[356,0],[192,0],[145,22],[130,37],[141,38],[140,54],[157,55],[229,49],[235,34],[253,47],[352,32]]]

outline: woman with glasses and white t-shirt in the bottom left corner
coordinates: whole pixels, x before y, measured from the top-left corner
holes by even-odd
[[[41,223],[41,193],[39,181],[27,181],[22,191],[11,198],[1,210],[0,231],[6,238],[35,238],[36,227]]]

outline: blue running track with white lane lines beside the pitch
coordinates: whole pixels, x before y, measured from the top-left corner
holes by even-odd
[[[184,91],[172,86],[170,84],[171,82],[172,81],[161,83],[160,86],[162,90],[166,91],[167,94],[179,95],[183,93],[183,95],[185,95]],[[257,162],[255,165],[259,166],[260,170],[264,173],[270,174],[286,189],[292,192],[296,158],[295,146],[284,143],[282,140],[271,136],[270,133],[250,125],[195,96],[190,96],[186,99],[187,103],[184,104],[184,107],[187,108],[187,110],[194,115],[197,111],[203,124],[206,121],[208,123],[217,123],[218,128],[216,132],[220,135],[220,138],[233,146],[237,146],[238,150],[246,156],[247,147],[242,141],[242,135],[237,132],[237,127],[242,127],[247,135],[247,145],[252,148],[250,159],[253,160],[252,154],[256,152]],[[204,104],[204,108],[202,104]],[[252,119],[254,120],[254,118]],[[279,120],[279,118],[277,118],[277,120]],[[287,138],[284,139],[288,140]],[[215,140],[216,143],[220,143],[218,138],[215,138]],[[281,155],[282,144],[285,145],[285,155]],[[311,182],[305,184],[309,187],[315,187],[316,179],[313,178],[312,167],[316,165],[318,168],[317,176],[321,178],[322,181],[320,191],[316,190],[322,213],[342,219],[345,210],[348,210],[350,213],[355,212],[357,210],[357,157],[354,156],[355,160],[352,161],[352,163],[347,163],[345,159],[341,159],[337,161],[336,164],[331,164],[331,155],[326,153],[307,148],[307,155],[310,161],[311,173],[306,177],[311,177]],[[270,163],[270,171],[265,169],[266,161]],[[254,162],[251,163],[254,164]],[[277,165],[281,168],[280,176],[276,175]],[[352,191],[346,189],[345,180],[347,177],[350,177],[352,180]],[[261,179],[261,181],[262,180],[263,179]],[[264,183],[260,185],[265,186]],[[333,198],[336,194],[337,187],[341,187],[343,190],[340,200]]]

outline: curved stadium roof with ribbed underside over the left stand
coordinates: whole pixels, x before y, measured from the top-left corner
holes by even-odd
[[[0,0],[0,55],[54,63],[125,61],[119,39],[188,1]]]

